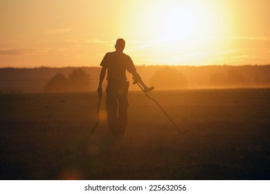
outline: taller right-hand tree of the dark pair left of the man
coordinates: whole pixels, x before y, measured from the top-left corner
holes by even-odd
[[[72,91],[89,91],[91,78],[82,69],[74,69],[69,75],[70,87]]]

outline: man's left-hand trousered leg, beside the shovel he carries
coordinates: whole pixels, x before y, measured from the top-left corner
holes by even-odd
[[[117,130],[117,96],[107,88],[106,111],[109,130],[115,135]]]

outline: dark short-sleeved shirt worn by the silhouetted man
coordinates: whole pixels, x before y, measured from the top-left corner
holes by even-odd
[[[106,53],[100,66],[107,67],[108,82],[125,82],[127,80],[125,71],[129,71],[129,73],[136,71],[129,55],[116,53],[116,51]]]

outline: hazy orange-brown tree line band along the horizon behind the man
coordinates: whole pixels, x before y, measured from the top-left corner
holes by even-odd
[[[270,65],[141,65],[136,69],[156,89],[270,87]],[[99,73],[100,67],[0,68],[0,93],[96,91]],[[127,78],[132,80],[129,73]],[[129,88],[138,89],[136,85]]]

